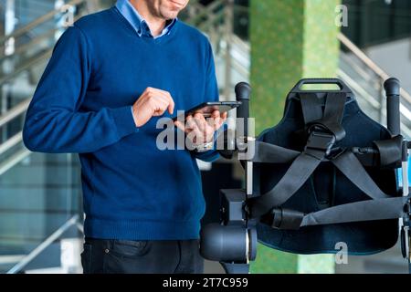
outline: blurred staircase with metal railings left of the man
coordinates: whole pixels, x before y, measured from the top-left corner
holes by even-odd
[[[16,25],[0,36],[0,272],[16,273],[60,266],[56,239],[81,236],[77,155],[32,153],[23,145],[21,130],[67,20],[102,6],[96,0],[13,2]],[[12,1],[3,1],[0,11],[8,11],[10,5]]]

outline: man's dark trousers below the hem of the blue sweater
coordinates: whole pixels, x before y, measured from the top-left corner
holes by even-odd
[[[202,274],[198,240],[128,241],[86,238],[84,274]]]

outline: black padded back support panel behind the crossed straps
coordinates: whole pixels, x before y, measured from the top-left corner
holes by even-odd
[[[326,94],[319,93],[322,104]],[[322,108],[323,109],[323,108]],[[303,151],[306,144],[301,137],[304,120],[300,105],[300,95],[290,93],[286,102],[283,119],[279,124],[265,130],[259,141],[265,141],[296,151]],[[352,94],[347,94],[342,128],[346,136],[336,146],[342,148],[372,147],[373,141],[389,139],[388,130],[367,117],[360,110]],[[272,189],[287,172],[290,164],[254,164],[254,190],[256,194]],[[374,182],[387,194],[395,196],[397,183],[395,170],[366,168]],[[282,207],[304,213],[319,211],[333,205],[368,200],[331,162],[321,162],[320,167]],[[344,242],[350,254],[373,254],[395,245],[397,240],[395,220],[331,224],[302,227],[297,231],[273,229],[266,224],[258,224],[258,240],[272,248],[297,254],[334,253],[335,245]]]

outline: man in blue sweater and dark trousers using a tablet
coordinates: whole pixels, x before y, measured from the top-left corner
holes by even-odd
[[[176,16],[188,0],[119,0],[60,37],[26,114],[31,151],[77,152],[86,214],[85,273],[201,273],[205,213],[195,159],[160,151],[156,122],[218,99],[206,37]],[[179,124],[213,144],[227,115]],[[190,136],[190,135],[187,135]]]

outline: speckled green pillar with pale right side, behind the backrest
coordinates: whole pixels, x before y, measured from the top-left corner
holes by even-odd
[[[256,134],[279,122],[287,94],[300,78],[336,76],[337,5],[340,0],[250,1],[251,116],[256,118]],[[260,245],[251,271],[329,273],[333,260],[330,255],[291,255]]]

